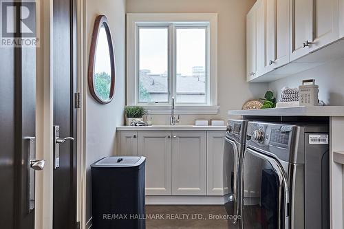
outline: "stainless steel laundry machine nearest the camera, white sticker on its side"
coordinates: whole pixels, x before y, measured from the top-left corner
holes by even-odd
[[[248,122],[244,229],[330,228],[328,137],[328,125]]]

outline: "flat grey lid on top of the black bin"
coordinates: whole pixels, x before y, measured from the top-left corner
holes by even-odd
[[[146,157],[111,156],[98,160],[98,162],[92,164],[91,167],[134,167],[142,164],[144,160],[146,160]]]

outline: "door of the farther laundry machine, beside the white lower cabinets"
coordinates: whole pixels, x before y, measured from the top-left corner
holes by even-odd
[[[237,223],[240,197],[240,155],[237,143],[224,138],[224,206],[232,223]]]

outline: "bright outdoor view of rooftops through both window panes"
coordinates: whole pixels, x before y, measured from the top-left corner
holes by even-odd
[[[168,28],[139,28],[139,102],[168,102]],[[176,29],[176,101],[206,102],[206,28]]]

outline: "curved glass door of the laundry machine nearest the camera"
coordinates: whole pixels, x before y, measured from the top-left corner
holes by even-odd
[[[242,178],[244,229],[289,228],[288,183],[279,162],[247,148]]]

